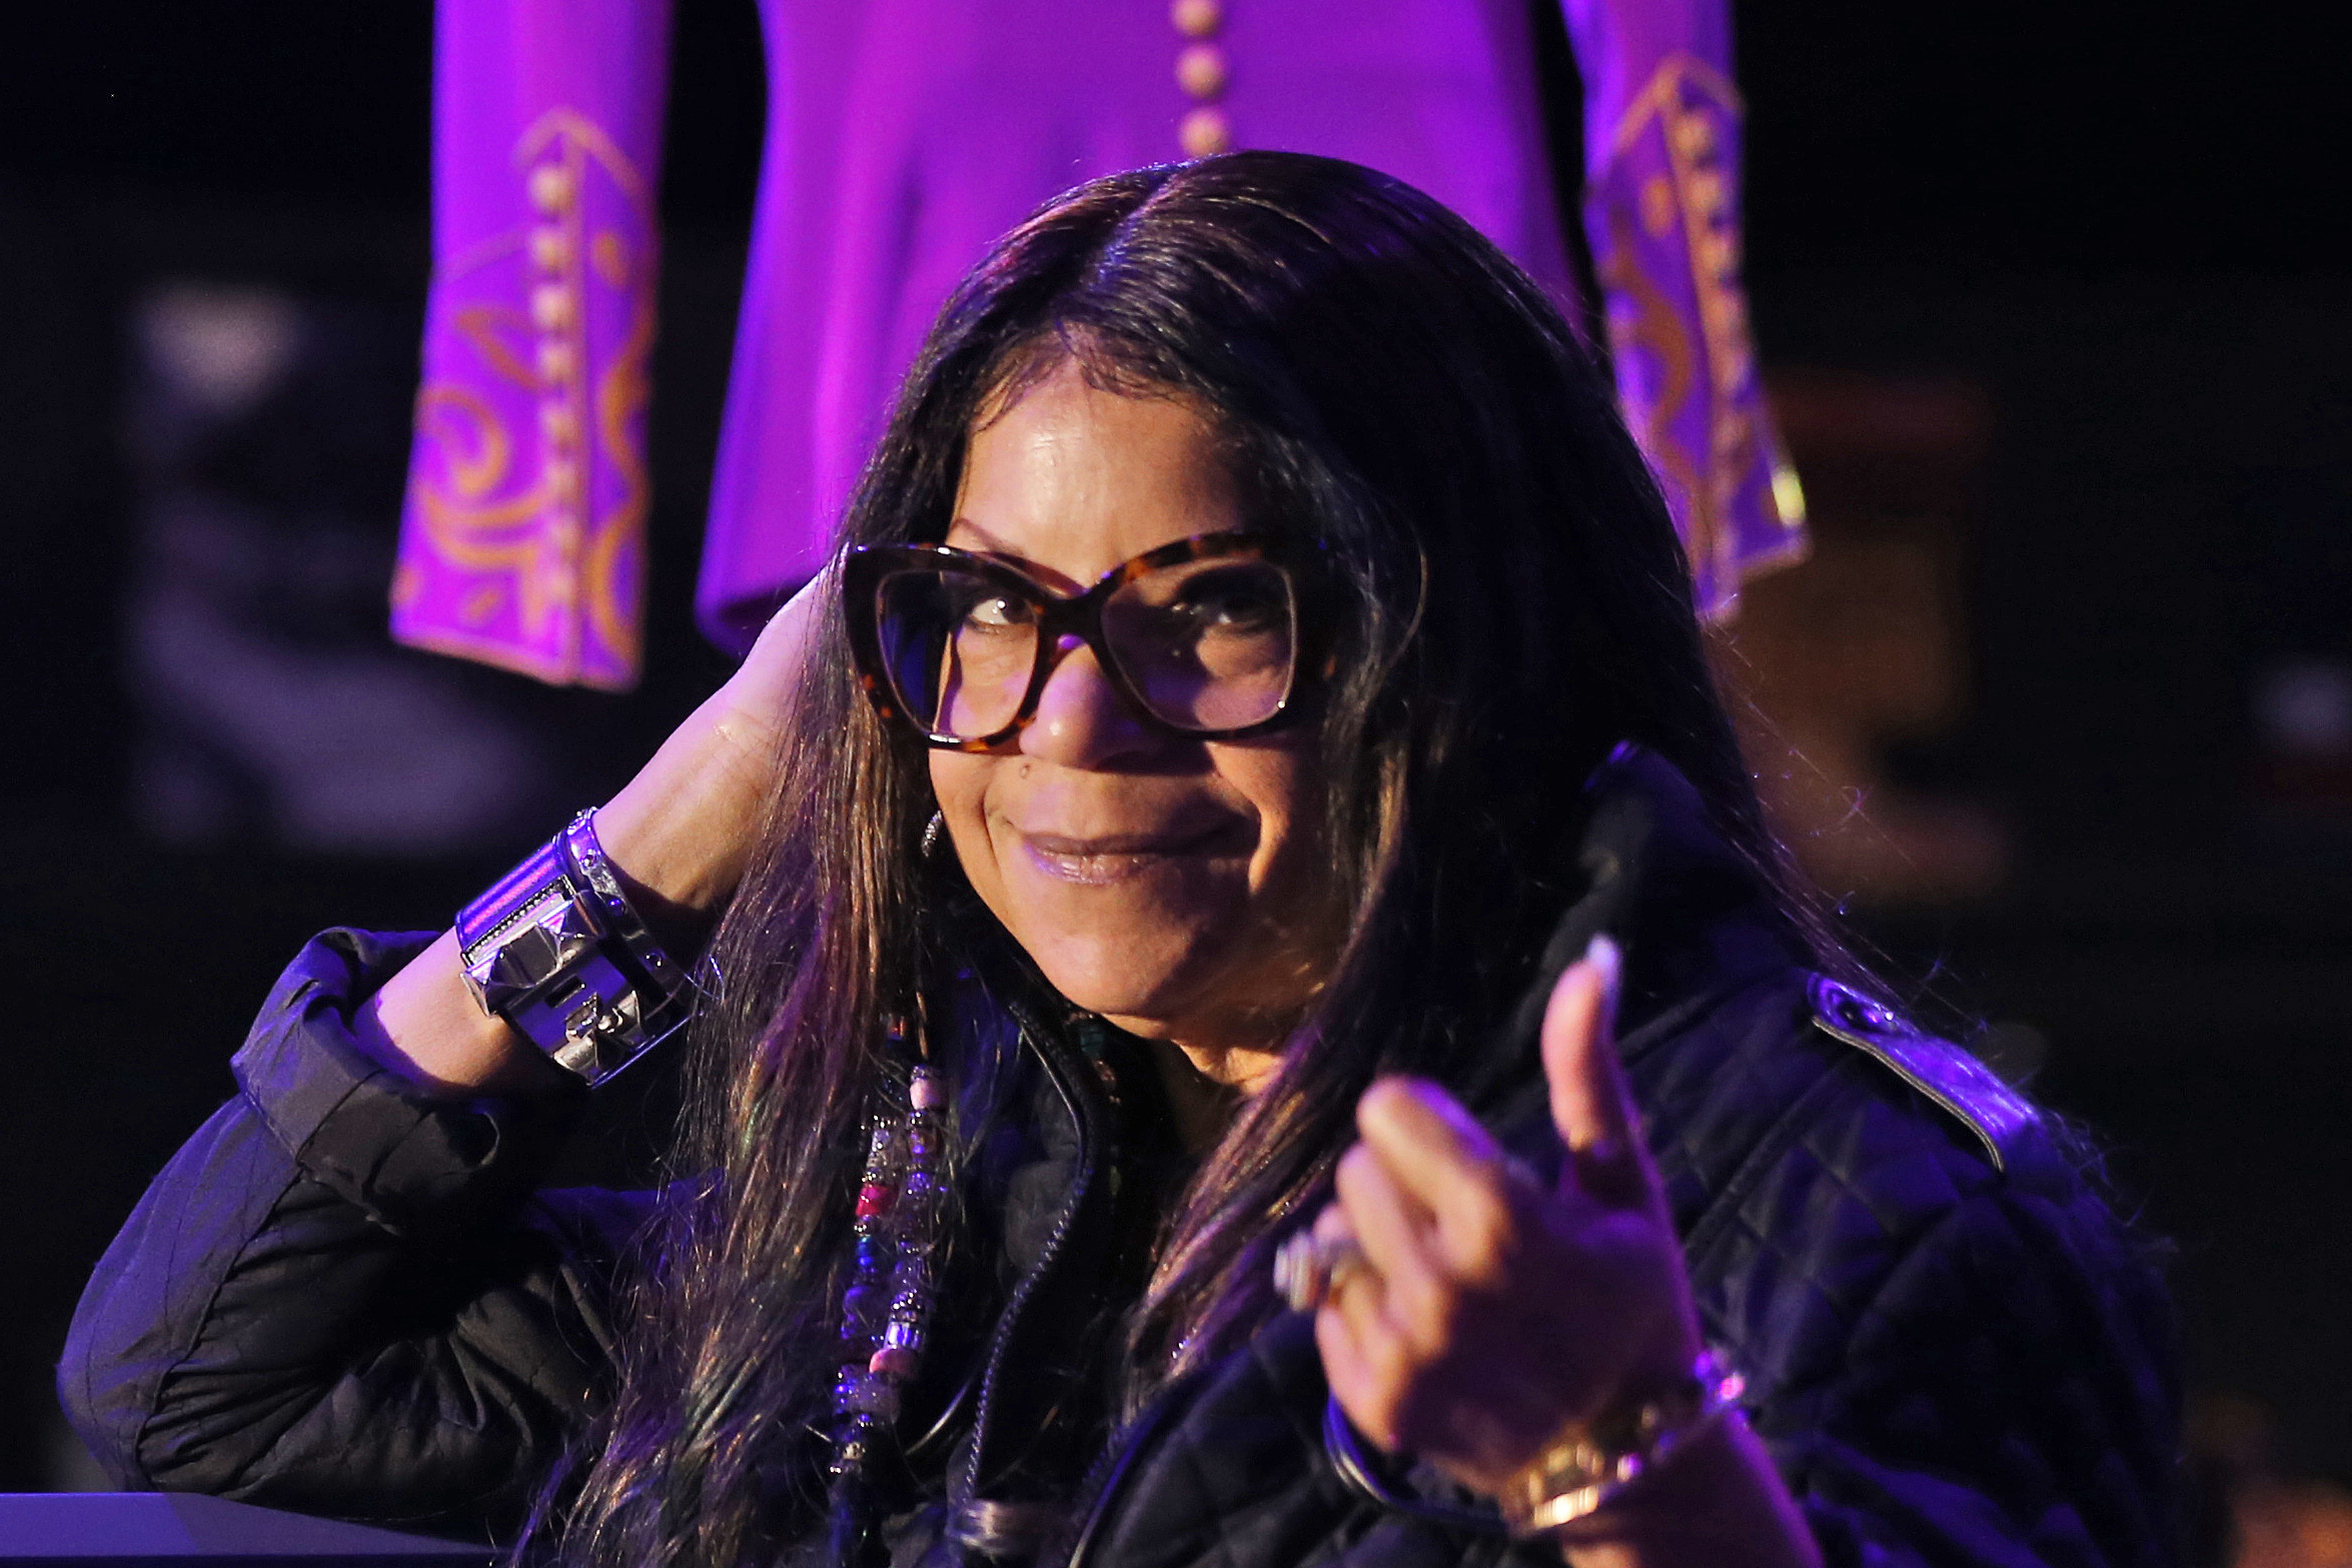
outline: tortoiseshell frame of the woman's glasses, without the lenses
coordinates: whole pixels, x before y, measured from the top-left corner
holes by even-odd
[[[1120,562],[1105,571],[1094,588],[1077,595],[1054,592],[1037,578],[995,555],[976,555],[950,545],[861,545],[842,562],[842,609],[849,621],[849,654],[856,661],[858,686],[866,689],[866,701],[875,705],[875,712],[880,712],[887,722],[906,724],[922,736],[924,745],[943,752],[993,752],[1028,729],[1028,724],[1037,717],[1037,703],[1044,698],[1044,684],[1054,677],[1054,668],[1061,663],[1063,654],[1068,654],[1063,637],[1077,637],[1084,646],[1094,649],[1094,661],[1101,665],[1103,679],[1110,682],[1129,710],[1162,733],[1183,736],[1188,741],[1242,741],[1247,736],[1279,729],[1282,724],[1298,719],[1298,696],[1303,684],[1301,670],[1315,668],[1308,649],[1312,618],[1308,616],[1298,574],[1279,555],[1282,543],[1284,541],[1277,541],[1275,536],[1244,529],[1195,534],[1192,538],[1178,538],[1160,545],[1157,550],[1145,550],[1134,559]],[[1185,562],[1221,557],[1263,559],[1282,571],[1282,578],[1291,590],[1291,672],[1282,686],[1282,701],[1277,701],[1275,710],[1263,719],[1240,724],[1235,729],[1185,729],[1181,724],[1169,724],[1152,712],[1150,703],[1143,701],[1134,682],[1127,679],[1127,670],[1120,668],[1120,661],[1110,649],[1110,639],[1103,637],[1103,607],[1120,588],[1160,571],[1162,567],[1183,567]],[[898,571],[941,567],[969,571],[1037,607],[1037,654],[1035,665],[1030,668],[1028,689],[1021,693],[1021,708],[1014,710],[1009,724],[988,736],[950,736],[936,729],[924,729],[924,724],[901,703],[889,677],[889,661],[882,654],[882,583]]]

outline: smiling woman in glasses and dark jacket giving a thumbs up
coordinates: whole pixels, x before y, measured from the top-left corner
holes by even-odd
[[[1070,193],[847,534],[550,851],[673,952],[724,907],[652,1222],[527,1197],[576,1081],[485,1004],[652,1032],[501,990],[546,863],[322,938],[82,1307],[125,1483],[536,1495],[593,1563],[2169,1554],[2161,1298],[1813,973],[1658,496],[1465,223],[1270,153]]]

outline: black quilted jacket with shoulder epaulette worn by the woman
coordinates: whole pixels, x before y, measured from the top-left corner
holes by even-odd
[[[1698,1312],[1823,1556],[2173,1561],[2169,1312],[2044,1119],[1802,969],[1653,759],[1597,778],[1583,863],[1545,971],[1592,931],[1625,943],[1623,1056]],[[99,1265],[59,1387],[118,1483],[499,1530],[597,1399],[652,1199],[534,1194],[562,1107],[414,1100],[353,1048],[353,999],[419,940],[327,933],[294,961],[242,1093]],[[1501,1048],[1529,1056],[1545,990]],[[978,1375],[917,1450],[898,1563],[1557,1563],[1345,1462],[1301,1316],[1108,1441],[1073,1422],[1098,1385],[1075,1328],[1131,1286],[1150,1140],[1098,1027],[1025,1018],[1023,1044],[1025,1110],[978,1161],[988,1279],[934,1354]],[[1557,1161],[1531,1067],[1479,1110]]]

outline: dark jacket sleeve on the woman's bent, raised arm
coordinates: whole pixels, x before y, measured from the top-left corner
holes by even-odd
[[[649,1194],[532,1194],[581,1095],[423,1100],[353,1046],[423,940],[313,940],[99,1262],[59,1392],[118,1486],[496,1533],[579,1429]]]

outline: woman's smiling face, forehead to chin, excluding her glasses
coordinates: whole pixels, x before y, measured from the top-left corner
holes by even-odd
[[[1190,402],[1096,390],[1063,364],[974,433],[948,543],[1077,592],[1242,524]],[[1277,1044],[1322,976],[1312,757],[1303,724],[1152,729],[1073,646],[1035,722],[997,752],[931,752],[931,788],[971,886],[1063,997],[1242,1077],[1218,1058]]]

